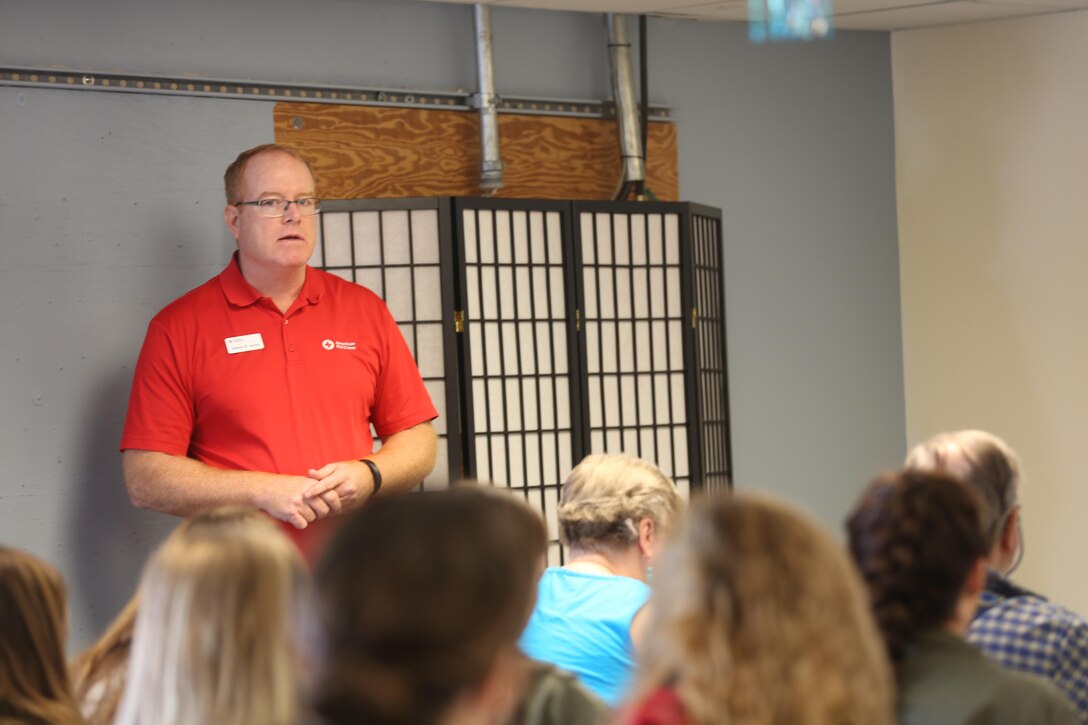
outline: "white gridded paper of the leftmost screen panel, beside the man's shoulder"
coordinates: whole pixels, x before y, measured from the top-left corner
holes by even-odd
[[[343,205],[339,205],[343,206]],[[438,411],[438,457],[424,489],[449,484],[445,336],[437,209],[322,211],[313,263],[380,295],[416,357]],[[454,374],[454,372],[450,372]]]

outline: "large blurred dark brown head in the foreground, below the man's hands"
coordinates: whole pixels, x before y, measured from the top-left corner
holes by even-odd
[[[430,725],[512,652],[532,609],[546,533],[485,488],[376,499],[318,565],[329,723]]]

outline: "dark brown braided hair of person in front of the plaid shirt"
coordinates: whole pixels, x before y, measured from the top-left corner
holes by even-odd
[[[918,635],[954,616],[972,567],[987,553],[977,496],[942,471],[877,478],[846,532],[895,663]]]

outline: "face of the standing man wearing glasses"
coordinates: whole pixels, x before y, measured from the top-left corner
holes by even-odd
[[[249,160],[242,177],[239,201],[280,197],[294,201],[314,196],[313,176],[306,164],[288,153],[268,151]],[[317,217],[304,216],[289,205],[283,217],[264,217],[258,207],[227,206],[226,226],[238,242],[242,270],[277,273],[298,269],[313,254]]]

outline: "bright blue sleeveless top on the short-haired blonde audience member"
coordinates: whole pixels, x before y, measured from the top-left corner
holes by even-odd
[[[541,578],[521,650],[573,673],[615,708],[634,675],[631,619],[648,598],[650,587],[638,579],[551,567]]]

